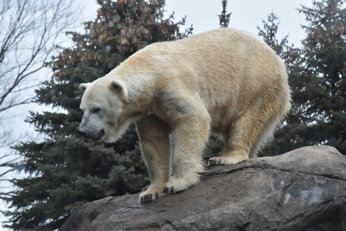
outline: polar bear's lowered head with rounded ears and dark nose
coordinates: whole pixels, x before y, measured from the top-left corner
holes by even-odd
[[[128,100],[125,82],[100,78],[80,84],[80,91],[83,92],[80,134],[94,141],[114,142],[120,138],[131,123],[124,109]]]

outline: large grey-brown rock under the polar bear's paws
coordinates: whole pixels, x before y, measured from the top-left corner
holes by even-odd
[[[346,156],[334,147],[208,168],[199,185],[147,204],[82,205],[64,230],[346,230]]]

